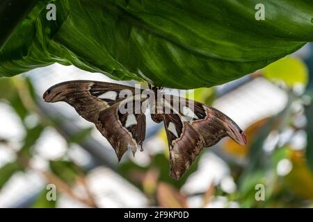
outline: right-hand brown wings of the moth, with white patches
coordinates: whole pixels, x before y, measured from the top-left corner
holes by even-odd
[[[246,144],[246,135],[239,126],[214,108],[178,96],[164,99],[162,105],[170,107],[171,113],[152,114],[152,119],[163,121],[166,128],[173,178],[181,178],[204,147],[214,146],[223,137]]]

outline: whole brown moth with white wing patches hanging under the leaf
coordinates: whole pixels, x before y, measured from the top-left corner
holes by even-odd
[[[95,123],[115,149],[118,160],[145,140],[145,109],[156,123],[163,121],[170,148],[170,174],[179,179],[202,148],[223,137],[246,144],[246,135],[222,112],[197,101],[163,94],[157,87],[135,89],[125,85],[88,80],[69,81],[50,87],[43,99],[64,101],[87,121]],[[178,104],[178,105],[177,105]]]

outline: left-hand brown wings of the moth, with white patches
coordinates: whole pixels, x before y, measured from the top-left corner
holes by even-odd
[[[74,80],[50,87],[43,99],[49,103],[69,103],[81,117],[95,123],[115,149],[119,161],[127,149],[135,154],[137,144],[142,145],[145,140],[145,114],[138,112],[144,99],[135,96],[134,87]],[[121,112],[121,107],[127,112]]]

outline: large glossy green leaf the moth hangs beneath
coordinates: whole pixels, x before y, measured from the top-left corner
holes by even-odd
[[[41,0],[0,52],[0,76],[53,62],[157,86],[210,87],[313,40],[310,0]],[[88,78],[86,76],[86,78]]]

